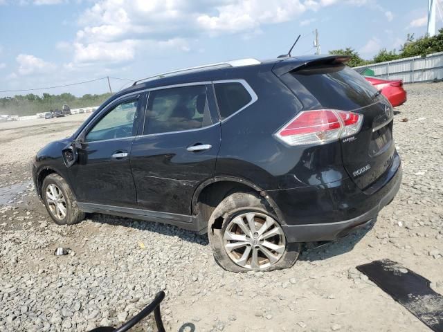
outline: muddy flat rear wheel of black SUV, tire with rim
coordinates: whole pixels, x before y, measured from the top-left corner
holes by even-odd
[[[208,238],[222,268],[231,272],[271,271],[295,264],[301,244],[287,243],[280,222],[271,211],[266,201],[253,193],[236,192],[219,203],[208,222]],[[269,237],[270,234],[275,236]],[[269,250],[270,247],[275,250]]]

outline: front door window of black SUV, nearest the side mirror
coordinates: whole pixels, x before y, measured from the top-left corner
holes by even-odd
[[[137,101],[118,104],[87,133],[87,142],[132,136],[136,110]]]

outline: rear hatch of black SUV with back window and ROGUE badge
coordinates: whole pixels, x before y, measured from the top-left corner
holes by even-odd
[[[340,63],[306,64],[280,77],[305,110],[337,109],[363,114],[354,136],[341,140],[343,165],[364,190],[390,167],[395,154],[390,103],[363,76]]]

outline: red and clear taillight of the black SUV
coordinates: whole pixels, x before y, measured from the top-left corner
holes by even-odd
[[[323,144],[359,132],[363,115],[336,109],[302,111],[275,133],[288,145]]]

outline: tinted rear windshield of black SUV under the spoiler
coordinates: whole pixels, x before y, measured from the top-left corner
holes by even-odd
[[[377,89],[342,64],[314,66],[291,75],[325,108],[350,111],[375,102]]]

